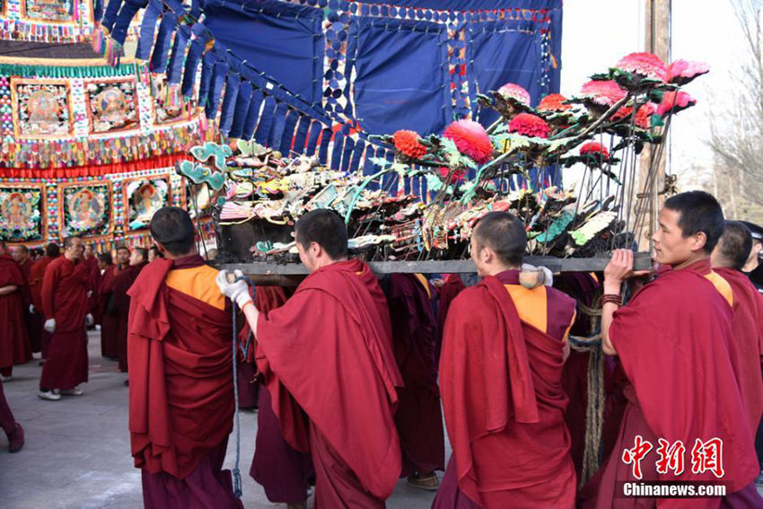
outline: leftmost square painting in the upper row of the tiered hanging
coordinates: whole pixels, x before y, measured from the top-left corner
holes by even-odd
[[[12,79],[13,127],[17,137],[58,137],[73,133],[69,83]]]

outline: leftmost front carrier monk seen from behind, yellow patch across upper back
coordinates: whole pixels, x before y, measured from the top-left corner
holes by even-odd
[[[127,292],[130,444],[144,505],[241,508],[222,470],[234,407],[230,308],[185,210],[159,209],[150,230],[166,258]]]

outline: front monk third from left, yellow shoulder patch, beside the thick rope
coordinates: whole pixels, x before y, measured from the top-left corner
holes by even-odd
[[[575,474],[562,390],[574,300],[520,285],[522,222],[478,221],[478,285],[451,304],[440,390],[452,458],[434,509],[574,507]]]

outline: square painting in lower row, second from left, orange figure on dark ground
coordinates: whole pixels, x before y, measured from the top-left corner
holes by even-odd
[[[61,234],[93,237],[111,233],[110,182],[59,184]]]

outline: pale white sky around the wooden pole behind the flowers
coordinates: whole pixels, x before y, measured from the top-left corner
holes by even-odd
[[[665,0],[658,0],[665,1]],[[561,92],[572,95],[588,76],[605,72],[620,57],[645,49],[645,0],[566,0],[562,32]],[[671,57],[698,60],[710,73],[684,89],[697,105],[671,123],[668,171],[679,175],[680,189],[708,179],[713,156],[707,140],[713,113],[723,125],[732,72],[744,53],[744,41],[731,0],[672,0]],[[720,116],[720,118],[718,118]],[[574,179],[576,173],[565,175]]]

